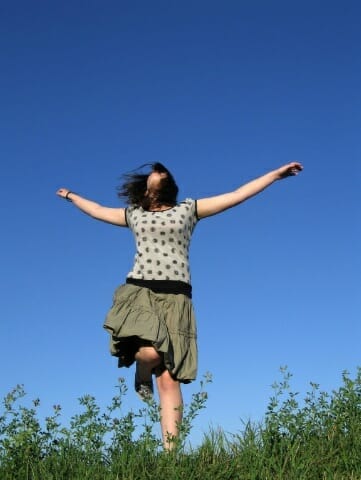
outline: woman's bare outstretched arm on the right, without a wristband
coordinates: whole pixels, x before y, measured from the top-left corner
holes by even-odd
[[[197,201],[198,217],[209,217],[210,215],[223,212],[228,208],[235,207],[262,192],[275,181],[297,175],[302,168],[300,163],[291,162],[242,185],[233,192],[224,193],[223,195],[217,195],[215,197],[202,198]]]

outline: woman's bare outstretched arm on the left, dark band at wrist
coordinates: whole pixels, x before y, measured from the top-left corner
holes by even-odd
[[[97,220],[102,220],[103,222],[111,223],[112,225],[118,225],[121,227],[126,227],[127,225],[125,221],[124,208],[103,207],[92,200],[87,200],[77,193],[71,192],[67,188],[60,188],[56,194],[61,198],[71,201],[76,207],[79,208],[79,210],[93,218],[96,218]]]

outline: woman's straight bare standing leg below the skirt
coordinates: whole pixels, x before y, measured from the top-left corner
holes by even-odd
[[[172,438],[178,436],[178,424],[182,420],[183,398],[180,383],[174,380],[168,370],[157,376],[161,407],[160,424],[163,445],[167,450],[173,447]]]

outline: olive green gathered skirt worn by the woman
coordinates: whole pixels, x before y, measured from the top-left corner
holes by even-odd
[[[197,330],[190,298],[154,293],[125,284],[114,293],[104,328],[110,333],[110,353],[119,367],[129,367],[142,342],[149,342],[163,358],[173,378],[191,382],[197,374]]]

